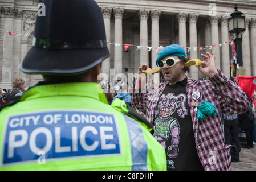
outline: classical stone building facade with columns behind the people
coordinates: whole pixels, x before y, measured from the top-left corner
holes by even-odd
[[[238,10],[246,16],[242,35],[243,75],[256,75],[256,1],[208,0],[96,0],[104,16],[111,56],[103,61],[102,72],[137,73],[142,64],[155,68],[156,48],[170,44],[183,46],[189,59],[214,51],[218,69],[231,77],[233,37],[228,18]],[[39,0],[2,0],[0,2],[0,88],[11,89],[15,77],[23,77],[26,86],[42,80],[26,75],[19,64],[32,46]],[[67,10],[68,12],[68,10]],[[68,24],[67,24],[68,26]],[[196,67],[188,76],[200,78]]]

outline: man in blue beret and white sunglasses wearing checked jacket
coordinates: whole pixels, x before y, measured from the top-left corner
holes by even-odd
[[[165,81],[149,93],[141,92],[146,75],[141,65],[133,107],[146,110],[153,123],[154,137],[165,148],[168,170],[231,170],[230,146],[225,145],[221,113],[239,114],[249,109],[246,94],[217,70],[214,52],[201,55],[206,61],[198,70],[209,80],[193,80],[185,75],[186,53],[173,44],[159,52],[156,65]]]

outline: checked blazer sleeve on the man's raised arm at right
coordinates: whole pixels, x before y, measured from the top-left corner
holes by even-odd
[[[220,70],[209,80],[215,86],[218,97],[221,97],[221,113],[241,114],[249,109],[250,102],[245,92]]]

